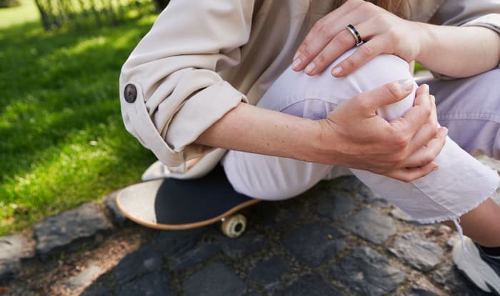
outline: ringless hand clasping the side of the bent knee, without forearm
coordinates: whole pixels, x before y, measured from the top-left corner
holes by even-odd
[[[401,118],[386,121],[376,113],[382,106],[408,96],[408,85],[403,81],[388,83],[361,93],[319,121],[318,162],[369,170],[404,182],[436,170],[439,166],[434,159],[448,131],[438,126],[429,86],[419,87],[414,106]]]

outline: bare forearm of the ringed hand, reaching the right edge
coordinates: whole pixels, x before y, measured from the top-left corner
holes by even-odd
[[[421,24],[416,60],[429,70],[452,77],[473,76],[500,62],[500,34],[479,26]]]

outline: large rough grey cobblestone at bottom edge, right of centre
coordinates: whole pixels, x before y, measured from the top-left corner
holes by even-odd
[[[392,292],[404,281],[406,273],[389,263],[370,247],[356,247],[351,255],[333,265],[330,275],[361,295],[378,296]]]

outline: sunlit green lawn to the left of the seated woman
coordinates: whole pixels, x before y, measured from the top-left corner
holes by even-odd
[[[121,65],[155,16],[45,32],[0,10],[0,235],[139,180],[154,156],[121,121]]]

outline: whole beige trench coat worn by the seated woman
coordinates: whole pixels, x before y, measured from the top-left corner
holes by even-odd
[[[255,105],[331,0],[172,0],[121,68],[124,124],[172,171],[214,148],[193,143],[241,101]],[[411,0],[413,21],[500,33],[500,0]],[[214,167],[224,150],[199,163]]]

